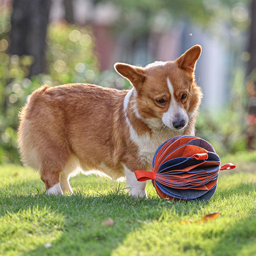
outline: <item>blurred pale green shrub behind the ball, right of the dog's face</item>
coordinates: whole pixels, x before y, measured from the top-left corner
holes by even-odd
[[[244,69],[236,70],[230,103],[225,108],[212,113],[206,110],[199,112],[196,134],[212,143],[220,156],[247,149],[247,97],[244,78]]]

